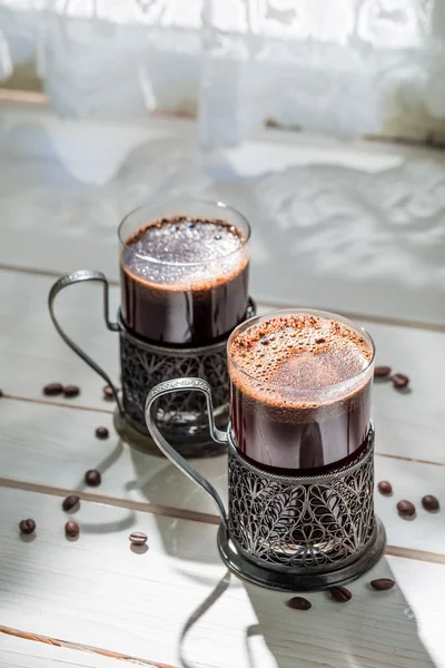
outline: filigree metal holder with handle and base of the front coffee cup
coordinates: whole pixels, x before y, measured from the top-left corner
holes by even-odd
[[[215,488],[166,441],[151,414],[170,392],[205,395],[210,434],[228,443],[228,513]],[[178,379],[154,387],[146,420],[158,445],[212,498],[221,519],[218,549],[241,578],[285,591],[328,589],[369,570],[385,548],[385,531],[374,514],[374,428],[356,460],[324,475],[277,475],[248,462],[230,429],[212,422],[211,390],[199,379]]]

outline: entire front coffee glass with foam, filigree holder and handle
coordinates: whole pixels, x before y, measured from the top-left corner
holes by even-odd
[[[158,448],[215,501],[218,547],[238,574],[266,587],[305,590],[349,581],[382,553],[374,515],[374,343],[330,313],[285,310],[240,324],[227,345],[230,423],[210,424],[228,443],[228,513],[212,485],[171,450],[146,419]],[[205,394],[198,379],[175,390]]]

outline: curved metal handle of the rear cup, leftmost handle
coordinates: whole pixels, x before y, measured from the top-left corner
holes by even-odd
[[[63,289],[63,287],[67,287],[68,285],[72,285],[75,283],[80,283],[82,281],[100,281],[101,283],[103,283],[103,316],[105,316],[105,322],[106,325],[108,327],[108,330],[110,330],[111,332],[119,332],[119,325],[118,323],[111,323],[109,321],[109,308],[108,308],[108,281],[105,276],[105,274],[102,274],[101,272],[90,272],[89,269],[80,269],[79,272],[73,272],[72,274],[67,274],[66,276],[62,276],[61,278],[59,278],[58,281],[56,281],[56,283],[53,284],[53,286],[51,287],[51,289],[49,291],[49,295],[48,295],[48,308],[49,308],[49,314],[51,316],[51,320],[55,324],[56,330],[59,332],[60,336],[63,338],[65,343],[67,343],[71,350],[75,351],[75,353],[77,355],[79,355],[79,357],[81,357],[85,362],[87,362],[88,366],[91,366],[91,369],[93,369],[96,371],[96,373],[98,373],[107,383],[107,385],[109,385],[112,390],[112,394],[113,397],[116,400],[116,403],[118,405],[119,412],[123,413],[123,407],[120,403],[120,399],[118,396],[118,393],[116,391],[115,384],[112,383],[111,379],[109,377],[109,375],[102,370],[100,369],[100,366],[98,364],[96,364],[96,362],[93,360],[91,360],[91,357],[89,355],[87,355],[87,353],[85,353],[61,328],[61,326],[59,325],[59,322],[56,317],[55,314],[55,299],[57,297],[57,295],[59,294],[59,292],[61,289]]]

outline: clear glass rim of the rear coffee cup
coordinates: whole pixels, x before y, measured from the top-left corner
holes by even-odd
[[[165,200],[158,199],[158,200],[149,202],[149,203],[142,204],[140,206],[137,206],[137,207],[135,207],[128,214],[126,214],[123,216],[123,218],[119,223],[119,227],[118,227],[118,238],[119,238],[119,242],[122,245],[122,247],[123,248],[128,248],[132,253],[134,256],[139,257],[140,259],[144,259],[146,262],[150,262],[150,263],[154,263],[154,264],[160,264],[160,265],[164,265],[164,266],[176,266],[176,267],[192,267],[192,266],[198,267],[198,266],[204,266],[204,265],[212,264],[212,263],[216,263],[216,262],[221,262],[221,259],[226,259],[228,257],[231,257],[233,255],[235,255],[236,253],[239,253],[240,250],[243,250],[243,248],[245,248],[245,246],[247,245],[248,240],[250,239],[251,228],[250,228],[250,224],[249,224],[248,219],[246,218],[246,216],[244,216],[244,214],[241,214],[240,212],[238,212],[238,209],[236,209],[235,207],[233,207],[233,206],[230,206],[228,204],[225,204],[224,202],[219,202],[217,199],[204,199],[201,197],[194,197],[192,195],[187,195],[187,196],[185,196],[185,198],[188,198],[190,202],[194,202],[196,204],[211,205],[211,206],[218,207],[218,208],[220,208],[222,210],[233,212],[239,218],[241,218],[243,223],[246,225],[246,228],[247,228],[247,234],[245,236],[243,236],[243,238],[241,238],[241,245],[238,248],[236,248],[236,250],[231,250],[227,255],[221,255],[221,257],[216,257],[216,258],[212,258],[212,259],[204,259],[204,261],[200,261],[200,262],[165,262],[165,261],[159,259],[157,257],[151,257],[150,255],[142,255],[141,253],[137,253],[135,250],[131,250],[131,245],[127,244],[126,239],[122,238],[122,228],[123,228],[123,225],[128,222],[128,219],[131,216],[134,216],[138,212],[141,212],[145,208],[151,208],[151,207],[156,207],[157,205],[161,205],[162,202],[166,202],[166,203],[168,202],[167,199],[165,199]],[[172,198],[172,199],[175,199],[175,198]],[[179,199],[179,197],[176,197],[176,199]],[[154,223],[155,223],[155,220],[154,220]],[[236,225],[234,225],[234,227],[236,227]]]

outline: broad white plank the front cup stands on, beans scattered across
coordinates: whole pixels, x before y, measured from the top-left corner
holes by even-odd
[[[34,540],[17,529],[29,515]],[[296,612],[289,595],[227,576],[215,527],[87,502],[77,519],[70,542],[57,499],[0,490],[0,623],[172,666],[445,665],[443,566],[385,558],[350,586],[349,603],[308,595],[313,609]],[[130,530],[148,533],[146,553],[131,552]],[[375,577],[398,587],[376,593]]]

